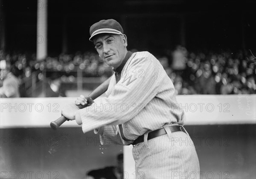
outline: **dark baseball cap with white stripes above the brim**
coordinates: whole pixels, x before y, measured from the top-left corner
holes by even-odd
[[[122,35],[124,33],[122,26],[114,19],[100,20],[90,26],[90,41],[95,35],[108,33]]]

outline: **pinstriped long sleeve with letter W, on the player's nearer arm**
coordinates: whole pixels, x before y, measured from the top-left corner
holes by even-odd
[[[95,100],[93,105],[77,113],[83,132],[104,125],[122,124],[134,118],[140,112],[137,109],[142,109],[141,106],[147,105],[157,95],[159,81],[156,79],[159,72],[159,63],[150,53],[132,55],[111,94]]]

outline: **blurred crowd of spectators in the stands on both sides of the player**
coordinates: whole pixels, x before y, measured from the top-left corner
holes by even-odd
[[[250,51],[189,52],[177,46],[172,54],[156,57],[172,79],[177,95],[256,93],[256,58]],[[84,78],[109,78],[113,74],[110,66],[93,52],[60,54],[58,57],[49,56],[44,61],[36,61],[35,54],[0,51],[0,69],[7,69],[15,75],[20,87],[33,75],[33,83],[42,80],[54,82],[58,79],[57,84],[61,84],[67,81],[76,83],[77,71],[81,71]],[[0,86],[3,86],[3,80]],[[23,87],[21,93],[25,94],[24,90]],[[23,94],[20,96],[29,97]]]

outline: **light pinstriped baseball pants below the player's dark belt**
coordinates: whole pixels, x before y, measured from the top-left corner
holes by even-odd
[[[166,127],[165,127],[166,129]],[[198,156],[184,132],[166,129],[167,134],[147,139],[132,149],[137,179],[199,179]]]

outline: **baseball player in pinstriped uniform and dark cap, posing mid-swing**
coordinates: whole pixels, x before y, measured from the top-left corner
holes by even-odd
[[[173,106],[175,89],[160,62],[149,52],[128,51],[122,26],[113,19],[93,24],[89,40],[115,73],[105,97],[80,110],[68,104],[62,115],[76,120],[84,133],[94,130],[102,144],[132,144],[136,178],[199,178],[185,114]],[[79,104],[87,104],[82,95]]]

